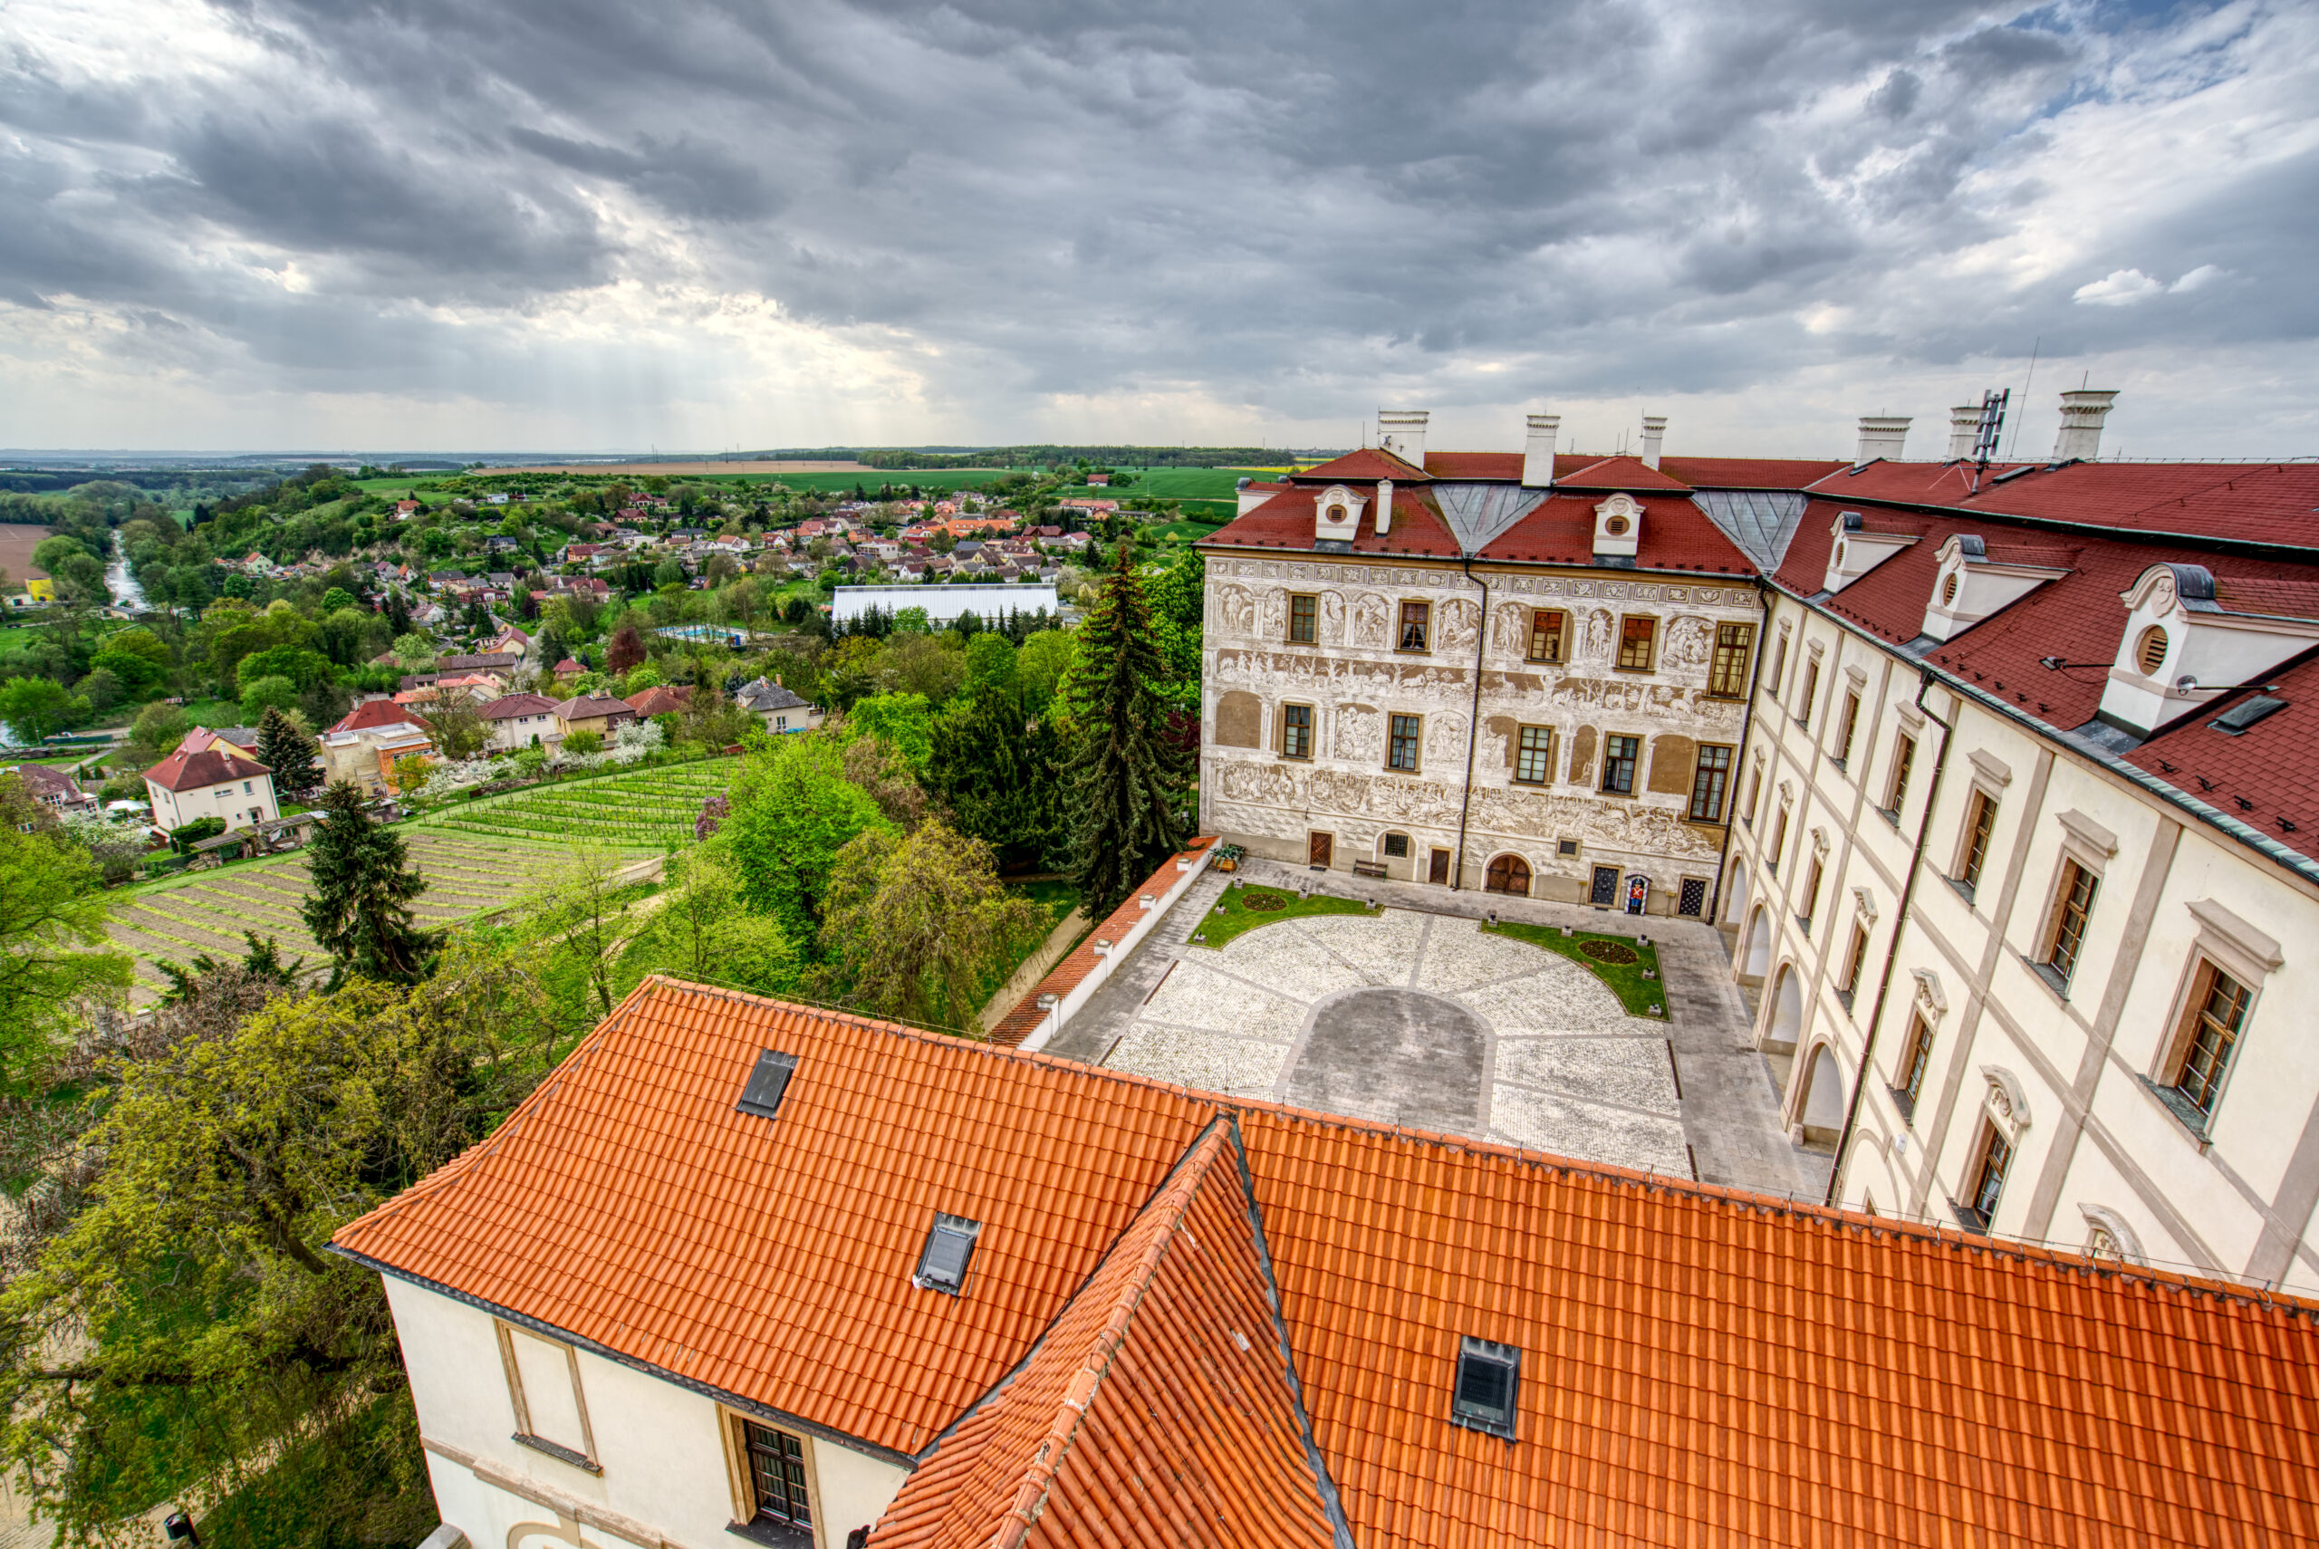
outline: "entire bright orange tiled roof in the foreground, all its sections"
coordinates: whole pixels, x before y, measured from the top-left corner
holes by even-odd
[[[334,1245],[909,1454],[879,1544],[2319,1544],[2319,1303],[663,979]]]

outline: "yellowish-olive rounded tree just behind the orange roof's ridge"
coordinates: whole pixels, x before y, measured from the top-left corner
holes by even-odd
[[[865,1011],[972,1030],[981,983],[1044,923],[999,886],[988,844],[937,819],[865,830],[837,853],[821,948]]]

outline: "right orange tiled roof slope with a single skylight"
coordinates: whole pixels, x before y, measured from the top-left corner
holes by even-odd
[[[2310,1544],[2305,1306],[1306,1115],[1243,1136],[1364,1549]],[[1517,1440],[1449,1424],[1524,1350]]]

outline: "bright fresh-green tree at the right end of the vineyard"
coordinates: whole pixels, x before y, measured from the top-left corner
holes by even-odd
[[[770,914],[795,944],[821,939],[821,900],[837,851],[858,832],[890,828],[870,795],[844,777],[833,737],[777,737],[733,781],[719,839],[740,867],[749,909]]]

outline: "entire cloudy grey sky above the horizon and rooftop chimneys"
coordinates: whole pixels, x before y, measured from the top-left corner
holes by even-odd
[[[2314,237],[2312,2],[0,5],[14,448],[2319,452]]]

